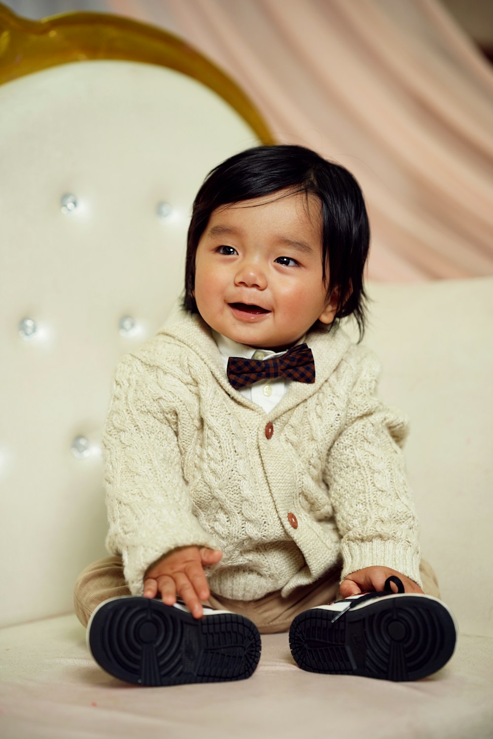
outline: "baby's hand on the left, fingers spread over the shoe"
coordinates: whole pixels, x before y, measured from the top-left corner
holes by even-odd
[[[183,598],[195,619],[203,616],[201,600],[211,592],[203,571],[204,565],[215,565],[222,557],[219,549],[179,547],[154,562],[144,575],[144,596],[154,598],[157,592],[166,605]]]

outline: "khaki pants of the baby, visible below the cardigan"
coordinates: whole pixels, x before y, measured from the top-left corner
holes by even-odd
[[[432,568],[421,560],[421,579],[427,595],[440,597],[438,581]],[[317,605],[335,601],[339,597],[341,571],[335,569],[313,582],[296,588],[287,598],[282,598],[279,590],[268,593],[255,601],[239,601],[211,594],[205,605],[216,610],[231,610],[254,621],[260,633],[268,634],[288,631],[291,621],[302,611]],[[95,607],[115,596],[131,595],[123,577],[123,563],[120,556],[98,559],[85,568],[78,576],[74,590],[75,613],[83,626],[87,626]]]

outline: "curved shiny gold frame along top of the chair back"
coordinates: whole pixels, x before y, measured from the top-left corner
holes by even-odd
[[[0,3],[0,84],[88,59],[139,61],[183,72],[217,92],[262,143],[275,143],[265,120],[239,86],[181,38],[106,13],[64,13],[30,21]]]

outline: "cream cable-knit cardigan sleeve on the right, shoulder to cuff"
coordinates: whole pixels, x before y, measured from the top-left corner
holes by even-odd
[[[342,430],[327,455],[325,480],[341,537],[341,580],[373,565],[422,585],[419,525],[402,446],[407,418],[376,395],[381,368],[362,350]]]

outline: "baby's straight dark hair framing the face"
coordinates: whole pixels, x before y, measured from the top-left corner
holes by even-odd
[[[221,205],[290,189],[322,203],[322,280],[327,296],[335,294],[333,324],[353,315],[364,334],[367,295],[363,271],[370,248],[370,224],[364,197],[347,169],[304,146],[256,146],[211,170],[194,200],[188,228],[183,307],[197,313],[193,291],[195,255],[211,214]],[[327,285],[328,268],[328,285]]]

